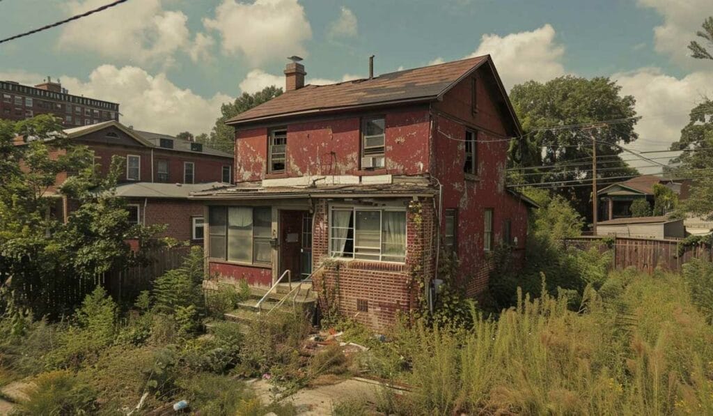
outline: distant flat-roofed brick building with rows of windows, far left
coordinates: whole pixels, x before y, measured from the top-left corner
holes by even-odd
[[[57,80],[47,78],[36,86],[0,81],[0,118],[24,120],[39,114],[53,114],[62,126],[76,127],[118,121],[119,105],[109,101],[73,96]]]

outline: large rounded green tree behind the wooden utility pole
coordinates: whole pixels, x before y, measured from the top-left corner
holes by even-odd
[[[598,178],[634,176],[620,154],[635,141],[635,99],[622,96],[621,87],[605,77],[561,76],[546,83],[528,81],[513,87],[510,98],[525,135],[513,141],[512,167],[546,166],[528,169],[520,176],[524,183],[549,183],[592,179],[592,136],[597,140]],[[551,126],[602,124],[595,130]],[[571,183],[568,183],[570,185]],[[592,190],[588,186],[563,186],[555,192],[572,203],[586,218],[592,218]]]

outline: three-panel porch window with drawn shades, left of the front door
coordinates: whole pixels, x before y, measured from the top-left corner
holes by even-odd
[[[239,263],[272,263],[272,209],[210,207],[210,257]]]

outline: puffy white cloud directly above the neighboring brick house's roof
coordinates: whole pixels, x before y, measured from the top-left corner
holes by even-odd
[[[70,93],[120,103],[121,123],[160,133],[207,133],[220,116],[220,105],[232,101],[222,93],[204,98],[175,85],[165,73],[151,75],[136,66],[102,65],[88,81],[67,76],[61,81]]]

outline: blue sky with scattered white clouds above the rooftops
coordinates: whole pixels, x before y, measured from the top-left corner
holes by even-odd
[[[110,0],[0,2],[5,38]],[[0,44],[0,79],[61,78],[70,93],[116,101],[144,130],[207,132],[220,104],[282,86],[285,57],[307,82],[491,54],[510,88],[563,74],[611,76],[637,98],[642,138],[674,141],[713,96],[713,63],[687,56],[710,0],[129,0]],[[11,19],[8,19],[10,18]]]

